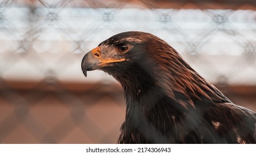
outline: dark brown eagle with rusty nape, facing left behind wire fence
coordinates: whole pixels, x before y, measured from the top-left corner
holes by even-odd
[[[124,89],[117,143],[256,143],[256,113],[233,104],[155,35],[116,34],[84,55],[81,69],[103,70]]]

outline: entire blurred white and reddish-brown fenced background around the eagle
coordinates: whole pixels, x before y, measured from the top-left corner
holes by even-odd
[[[116,143],[122,87],[81,59],[114,34],[170,43],[235,104],[256,111],[256,1],[0,0],[0,143]]]

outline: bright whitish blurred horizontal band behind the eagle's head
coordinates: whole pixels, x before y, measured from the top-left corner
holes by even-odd
[[[53,71],[63,81],[114,81],[102,71],[85,78],[83,55],[114,34],[140,30],[171,44],[211,82],[224,76],[229,84],[256,84],[255,11],[37,8],[34,13],[27,7],[0,8],[5,80],[42,80]]]

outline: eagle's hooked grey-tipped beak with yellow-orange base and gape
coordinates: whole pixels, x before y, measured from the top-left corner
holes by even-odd
[[[121,62],[124,61],[125,58],[122,59],[102,59],[101,58],[101,49],[100,46],[96,47],[95,49],[89,51],[84,55],[84,58],[81,63],[81,69],[85,75],[87,76],[87,71],[90,70],[96,70],[103,66],[106,66],[106,64],[109,63],[115,63],[115,62]]]

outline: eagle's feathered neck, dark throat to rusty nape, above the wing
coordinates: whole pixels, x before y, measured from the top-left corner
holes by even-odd
[[[178,143],[180,120],[203,106],[230,102],[186,63],[177,70],[159,65],[154,69],[134,64],[112,72],[124,88],[127,104],[120,143]]]

